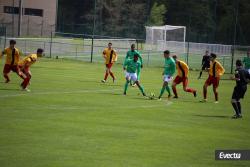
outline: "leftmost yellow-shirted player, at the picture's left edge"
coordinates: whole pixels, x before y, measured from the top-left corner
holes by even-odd
[[[25,76],[20,71],[18,67],[18,62],[20,60],[19,50],[15,47],[16,41],[10,40],[10,46],[5,48],[2,52],[2,55],[6,55],[5,65],[3,69],[3,76],[5,78],[5,83],[10,81],[8,74],[13,71],[22,79],[25,79]]]

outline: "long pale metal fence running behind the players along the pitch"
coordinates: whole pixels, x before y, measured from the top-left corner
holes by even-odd
[[[123,63],[126,52],[130,49],[130,45],[135,43],[137,49],[142,54],[145,67],[163,67],[164,63],[162,51],[146,50],[144,48],[144,41],[136,39],[55,32],[51,33],[50,38],[8,38],[2,35],[0,37],[0,48],[8,46],[10,39],[17,41],[16,46],[23,55],[34,53],[37,48],[43,48],[46,57],[75,59],[88,62],[103,62],[102,51],[107,47],[108,42],[112,42],[114,49],[116,49],[118,53],[118,63]],[[204,48],[205,44],[199,45],[203,46],[201,47],[202,49],[192,50],[191,48],[186,48],[186,51],[189,50],[190,52],[178,54],[180,59],[188,62],[191,69],[200,69],[202,56],[206,49]],[[188,47],[188,44],[186,44],[186,46]],[[235,61],[236,59],[244,57],[248,49],[249,47],[246,46],[235,47],[233,60]],[[169,50],[171,51],[171,48],[169,48]],[[218,55],[218,59],[225,67],[226,72],[230,73],[232,69],[232,53]]]

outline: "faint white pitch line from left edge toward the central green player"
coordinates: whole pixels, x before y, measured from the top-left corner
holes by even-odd
[[[58,91],[58,92],[36,92],[36,93],[30,93],[25,92],[21,94],[11,94],[11,95],[0,95],[0,98],[6,98],[6,97],[18,97],[18,96],[29,96],[29,95],[51,95],[51,94],[79,94],[79,93],[100,93],[100,92],[113,92],[116,90],[121,89],[100,89],[100,90],[76,90],[76,91]]]

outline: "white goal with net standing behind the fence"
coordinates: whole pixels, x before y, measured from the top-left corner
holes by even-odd
[[[185,53],[185,26],[146,26],[146,49]]]

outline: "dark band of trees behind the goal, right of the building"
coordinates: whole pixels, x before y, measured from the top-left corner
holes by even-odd
[[[94,10],[96,2],[96,10]],[[250,44],[249,0],[58,0],[57,30],[145,38],[145,25],[183,25],[194,42]],[[238,5],[237,5],[238,4]]]

